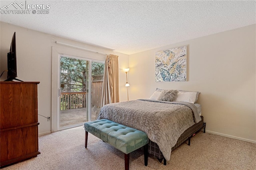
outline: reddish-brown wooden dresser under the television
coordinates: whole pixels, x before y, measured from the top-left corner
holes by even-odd
[[[37,85],[0,82],[0,166],[32,158],[38,151]]]

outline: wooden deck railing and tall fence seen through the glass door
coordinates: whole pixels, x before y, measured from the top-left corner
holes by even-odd
[[[100,108],[102,96],[103,75],[93,76],[92,107]],[[60,110],[79,109],[86,107],[86,92],[61,92]]]

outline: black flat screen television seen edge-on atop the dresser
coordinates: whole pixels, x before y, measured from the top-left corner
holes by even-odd
[[[17,64],[16,64],[16,32],[14,32],[12,36],[12,42],[10,45],[10,52],[7,53],[7,67],[8,67],[8,73],[7,73],[7,79],[5,81],[21,81],[19,79],[16,79],[17,77]]]

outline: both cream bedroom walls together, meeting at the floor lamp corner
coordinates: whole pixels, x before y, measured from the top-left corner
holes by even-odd
[[[40,81],[38,113],[51,117],[52,46],[67,48],[54,42],[112,53],[119,55],[120,101],[127,100],[126,76],[122,69],[130,67],[130,100],[149,98],[156,87],[200,91],[198,103],[202,104],[208,132],[256,142],[255,30],[254,24],[128,56],[0,22],[0,72],[7,69],[7,53],[16,32],[18,79]],[[188,45],[188,81],[155,82],[155,53],[182,45]],[[1,81],[5,79],[6,73]],[[51,122],[41,116],[38,120],[39,134],[50,132]]]

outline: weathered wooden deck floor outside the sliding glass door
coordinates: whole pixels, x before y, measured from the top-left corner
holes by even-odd
[[[99,112],[100,112],[100,108],[92,107],[92,111],[91,111],[92,121],[96,120]],[[68,109],[68,110],[60,111],[60,127],[75,125],[83,122],[87,122],[86,108]]]

